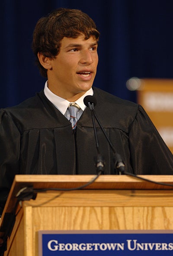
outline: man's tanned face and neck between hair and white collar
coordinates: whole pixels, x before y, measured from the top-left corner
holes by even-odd
[[[97,64],[96,39],[90,37],[86,40],[83,35],[76,39],[64,37],[60,52],[51,60],[48,87],[67,100],[79,98],[92,87]]]

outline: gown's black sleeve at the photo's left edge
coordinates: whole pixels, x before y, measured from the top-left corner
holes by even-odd
[[[13,119],[0,110],[0,214],[14,176],[19,173],[20,132]]]

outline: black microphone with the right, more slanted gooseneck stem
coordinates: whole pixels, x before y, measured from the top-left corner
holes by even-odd
[[[116,174],[119,174],[119,175],[123,174],[125,172],[125,164],[122,160],[122,157],[118,153],[116,153],[112,142],[110,141],[106,131],[104,130],[102,124],[100,123],[99,118],[96,115],[96,111],[95,111],[95,108],[94,108],[94,106],[96,106],[96,104],[97,104],[96,98],[92,95],[87,95],[86,97],[84,97],[83,102],[84,102],[86,107],[89,107],[90,110],[92,110],[91,112],[92,112],[93,118],[94,117],[96,118],[97,123],[99,124],[101,130],[103,131],[103,134],[105,135],[105,137],[106,137],[106,139],[109,143],[109,146],[111,147],[111,149],[113,151],[113,154],[114,154],[113,160],[114,160]]]

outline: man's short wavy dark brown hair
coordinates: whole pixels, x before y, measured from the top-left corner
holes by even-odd
[[[99,40],[96,24],[81,10],[58,8],[38,20],[33,32],[32,50],[42,76],[47,77],[47,69],[40,64],[38,52],[45,57],[55,58],[64,37],[77,38],[80,34],[84,34],[85,39],[93,36],[97,41]]]

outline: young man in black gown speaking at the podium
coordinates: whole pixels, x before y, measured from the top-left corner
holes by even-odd
[[[95,23],[80,10],[58,9],[36,24],[33,51],[48,81],[35,97],[0,111],[1,207],[16,174],[96,174],[86,95],[96,98],[97,116],[127,172],[173,174],[173,155],[143,108],[92,87],[98,40]],[[72,127],[74,102],[77,126]],[[97,122],[96,127],[104,174],[115,174],[112,149]]]

